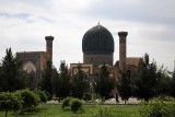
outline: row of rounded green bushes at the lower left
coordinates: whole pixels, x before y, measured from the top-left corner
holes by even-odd
[[[48,96],[43,91],[21,90],[14,93],[0,93],[0,112],[23,113],[27,109],[34,109],[39,103],[46,103]]]

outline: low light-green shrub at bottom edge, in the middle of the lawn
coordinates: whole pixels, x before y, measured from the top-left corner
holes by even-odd
[[[109,107],[97,106],[97,109],[94,112],[93,117],[116,117],[109,109]]]

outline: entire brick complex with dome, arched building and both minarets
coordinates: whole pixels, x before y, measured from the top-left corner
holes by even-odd
[[[119,60],[115,61],[115,42],[110,32],[97,24],[90,28],[82,38],[83,63],[70,63],[71,75],[78,72],[78,67],[84,71],[89,81],[92,81],[100,71],[103,63],[106,65],[109,75],[116,80],[120,78],[124,68],[128,75],[140,69],[142,59],[140,57],[127,57],[128,32],[118,32],[119,36]],[[48,60],[52,61],[52,36],[46,36],[46,51],[23,51],[16,55],[23,61],[23,69],[34,77],[34,86],[37,86],[44,66]]]

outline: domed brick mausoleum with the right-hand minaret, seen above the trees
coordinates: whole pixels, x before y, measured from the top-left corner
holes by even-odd
[[[71,74],[75,74],[78,67],[81,66],[81,70],[88,73],[90,79],[93,79],[103,63],[106,65],[109,75],[116,80],[120,78],[120,70],[124,68],[129,75],[132,71],[138,71],[142,59],[140,57],[127,57],[127,35],[128,32],[118,32],[119,60],[113,65],[115,57],[113,35],[100,24],[90,28],[82,38],[83,63],[70,63]]]

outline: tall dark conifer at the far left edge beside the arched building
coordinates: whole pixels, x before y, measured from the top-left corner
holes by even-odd
[[[0,67],[0,91],[12,92],[23,89],[23,69],[20,59],[13,56],[11,48],[7,49]]]

